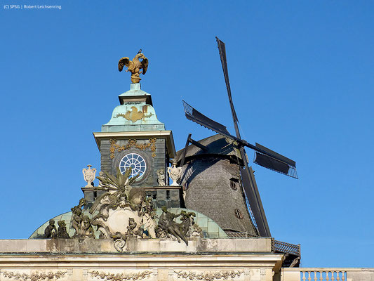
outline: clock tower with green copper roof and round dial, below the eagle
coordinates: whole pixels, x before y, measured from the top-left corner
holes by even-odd
[[[122,174],[128,167],[131,176],[140,174],[134,185],[152,187],[159,184],[159,174],[166,175],[169,159],[175,157],[173,134],[159,122],[149,93],[132,83],[130,91],[119,95],[112,118],[93,133],[101,155],[101,171]],[[164,185],[168,185],[165,176]]]

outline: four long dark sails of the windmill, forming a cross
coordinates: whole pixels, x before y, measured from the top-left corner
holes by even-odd
[[[267,224],[267,218],[265,216],[265,211],[262,207],[260,194],[258,192],[257,185],[255,184],[253,170],[251,169],[251,167],[248,167],[245,148],[251,148],[255,151],[254,162],[256,164],[259,164],[260,166],[264,166],[267,169],[271,169],[286,176],[290,176],[292,178],[298,178],[298,174],[296,172],[296,163],[295,161],[288,159],[287,157],[284,157],[283,155],[280,155],[273,150],[269,150],[269,148],[265,148],[265,146],[260,145],[259,143],[255,143],[255,145],[252,145],[251,143],[248,143],[241,138],[238,126],[239,120],[235,112],[234,103],[232,102],[229,74],[227,71],[225,43],[220,41],[218,37],[215,38],[217,39],[218,50],[220,51],[222,70],[225,76],[227,94],[229,96],[229,105],[232,112],[232,119],[234,122],[236,136],[230,134],[229,131],[227,131],[226,126],[206,117],[206,115],[203,115],[201,112],[195,110],[194,107],[183,100],[185,115],[187,119],[200,124],[201,126],[205,126],[206,128],[211,129],[212,131],[215,131],[216,133],[219,133],[220,135],[225,136],[226,138],[229,138],[237,143],[241,159],[243,161],[243,166],[240,166],[240,176],[244,195],[246,196],[246,200],[248,200],[248,204],[253,214],[255,225],[258,228],[259,235],[261,237],[271,237],[269,226]],[[191,135],[189,135],[187,138],[185,153],[189,142],[196,143],[190,138],[190,136]],[[183,162],[184,156],[182,157],[182,163]]]

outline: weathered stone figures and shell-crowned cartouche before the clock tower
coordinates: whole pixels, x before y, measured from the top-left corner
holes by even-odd
[[[173,181],[176,184],[176,174],[179,173],[175,171],[174,174]],[[131,184],[135,183],[138,176],[130,178],[130,175],[131,168],[124,174],[117,169],[116,176],[100,173],[97,178],[100,188],[105,192],[87,208],[88,213],[82,209],[86,206],[84,198],[72,207],[70,227],[75,230],[72,238],[95,238],[96,228],[100,233],[99,239],[113,239],[117,251],[123,251],[128,237],[169,238],[178,242],[182,240],[186,244],[188,237],[203,237],[201,228],[194,222],[196,215],[193,212],[181,211],[180,214],[173,214],[166,207],[162,207],[162,214],[158,218],[152,197],[147,198],[144,189],[132,187]],[[178,217],[181,223],[175,221]],[[55,221],[51,220],[45,229],[44,238],[70,238],[65,221],[58,221],[58,226],[56,230]]]

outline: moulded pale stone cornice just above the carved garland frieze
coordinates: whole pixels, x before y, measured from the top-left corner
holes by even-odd
[[[281,263],[283,254],[222,254],[222,255],[189,255],[189,254],[51,254],[51,255],[0,255],[0,268],[20,266],[33,268],[43,264],[45,268],[102,267],[112,268],[241,268],[261,267],[274,268]]]

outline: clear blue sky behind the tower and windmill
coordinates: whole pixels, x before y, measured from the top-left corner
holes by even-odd
[[[374,266],[373,1],[0,8],[0,239],[27,238],[79,202],[81,169],[100,167],[92,132],[130,86],[118,60],[140,48],[142,89],[178,150],[190,132],[213,134],[185,119],[182,99],[234,133],[218,36],[243,138],[297,163],[299,180],[253,164],[272,235],[300,243],[304,267]]]

